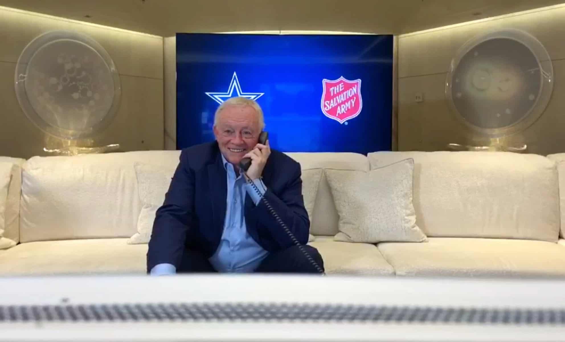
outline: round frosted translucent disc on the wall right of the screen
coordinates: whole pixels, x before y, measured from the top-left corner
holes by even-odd
[[[553,66],[544,46],[506,29],[471,39],[447,73],[451,110],[475,134],[502,137],[523,131],[544,112],[553,91]]]

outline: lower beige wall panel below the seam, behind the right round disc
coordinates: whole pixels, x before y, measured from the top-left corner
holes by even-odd
[[[506,137],[511,146],[528,145],[529,153],[550,154],[565,151],[565,60],[553,62],[555,84],[544,114],[523,134]],[[446,73],[405,77],[398,83],[399,150],[446,150],[447,144],[472,143],[466,129],[447,106]],[[415,102],[422,93],[424,102]]]

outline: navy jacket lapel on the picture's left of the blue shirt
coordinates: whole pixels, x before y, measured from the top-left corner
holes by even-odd
[[[210,189],[210,206],[214,230],[223,231],[225,220],[225,200],[228,195],[227,173],[221,160],[220,151],[216,161],[208,164],[208,189]]]

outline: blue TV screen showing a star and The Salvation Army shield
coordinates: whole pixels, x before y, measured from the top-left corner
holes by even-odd
[[[393,36],[178,33],[176,64],[179,149],[214,140],[236,96],[262,107],[274,149],[391,149]]]

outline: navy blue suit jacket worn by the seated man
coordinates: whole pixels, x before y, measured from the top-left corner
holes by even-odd
[[[300,164],[271,149],[263,169],[264,198],[301,244],[308,241],[310,220],[302,198]],[[179,268],[186,248],[209,258],[216,252],[224,227],[226,171],[218,143],[208,142],[181,151],[163,206],[157,210],[147,252],[147,271],[159,263]],[[267,252],[293,245],[292,240],[260,201],[245,198],[247,232]]]

